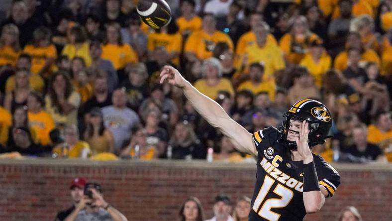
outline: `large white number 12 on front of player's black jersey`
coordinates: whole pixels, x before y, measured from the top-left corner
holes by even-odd
[[[261,203],[264,201],[264,198],[267,196],[268,192],[270,191],[274,183],[275,183],[274,179],[272,179],[268,175],[265,176],[264,183],[261,186],[259,194],[257,195],[252,207],[252,209],[257,213],[257,211],[259,211],[261,206],[258,215],[269,221],[278,221],[281,216],[280,214],[272,212],[271,209],[286,207],[294,196],[292,190],[278,183],[278,185],[275,187],[273,192],[281,196],[281,199],[277,199],[277,198],[267,199],[264,202],[264,204],[261,205]]]

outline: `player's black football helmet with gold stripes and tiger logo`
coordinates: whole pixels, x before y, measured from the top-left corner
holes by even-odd
[[[329,137],[328,132],[332,126],[332,117],[329,110],[321,102],[312,99],[300,100],[283,115],[282,126],[279,128],[281,134],[278,142],[291,150],[296,150],[295,141],[287,140],[290,119],[306,120],[309,123],[309,147],[323,144],[326,141],[325,139]]]

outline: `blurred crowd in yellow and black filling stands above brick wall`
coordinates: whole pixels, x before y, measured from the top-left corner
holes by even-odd
[[[182,94],[173,65],[250,132],[323,102],[327,161],[392,162],[392,0],[13,0],[0,22],[0,157],[252,161]]]

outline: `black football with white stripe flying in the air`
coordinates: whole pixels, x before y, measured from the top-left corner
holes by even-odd
[[[172,11],[165,0],[139,0],[136,10],[142,21],[155,29],[171,20]]]

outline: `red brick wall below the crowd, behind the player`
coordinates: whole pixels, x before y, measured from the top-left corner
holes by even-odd
[[[306,221],[333,221],[341,208],[356,206],[365,221],[391,221],[392,165],[334,165],[341,185],[322,211]],[[69,184],[77,176],[102,184],[106,200],[130,221],[174,221],[183,200],[196,196],[206,218],[213,198],[251,196],[254,165],[205,162],[0,161],[0,220],[52,221],[70,206]]]

